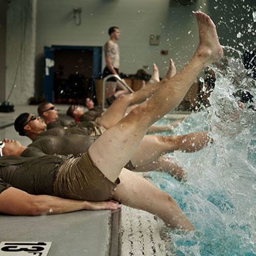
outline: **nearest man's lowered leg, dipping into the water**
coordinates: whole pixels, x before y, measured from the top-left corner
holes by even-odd
[[[159,216],[170,227],[195,230],[177,202],[168,193],[125,168],[120,173],[120,180],[121,183],[115,191],[115,200]]]

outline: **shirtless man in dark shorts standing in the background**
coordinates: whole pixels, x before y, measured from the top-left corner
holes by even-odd
[[[118,27],[111,27],[108,29],[108,35],[110,39],[104,45],[104,54],[106,60],[106,67],[103,70],[103,77],[114,74],[120,76],[120,51],[116,41],[120,38],[120,31]],[[107,88],[107,102],[109,106],[114,102],[116,98],[124,93],[128,93],[127,88],[117,81],[114,77],[108,79],[106,82]],[[116,91],[116,88],[118,89]]]

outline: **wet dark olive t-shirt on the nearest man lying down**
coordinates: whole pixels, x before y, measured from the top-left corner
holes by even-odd
[[[32,195],[52,195],[56,174],[70,157],[0,157],[0,193],[12,186]]]

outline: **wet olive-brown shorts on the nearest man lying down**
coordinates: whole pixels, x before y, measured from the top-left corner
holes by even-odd
[[[120,183],[107,179],[95,166],[88,152],[68,159],[54,182],[54,195],[62,198],[105,201],[113,197]]]

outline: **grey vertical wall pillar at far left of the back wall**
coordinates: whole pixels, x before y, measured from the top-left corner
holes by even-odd
[[[35,92],[36,1],[12,0],[8,4],[6,29],[6,97],[24,104]]]

